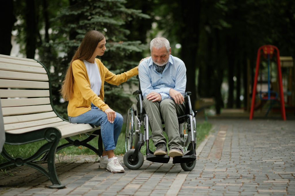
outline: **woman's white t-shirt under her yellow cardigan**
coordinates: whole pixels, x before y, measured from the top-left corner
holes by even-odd
[[[90,88],[96,95],[100,95],[101,78],[96,62],[94,61],[94,63],[90,63],[86,60],[83,60],[83,62],[86,66],[86,70],[90,80]]]

